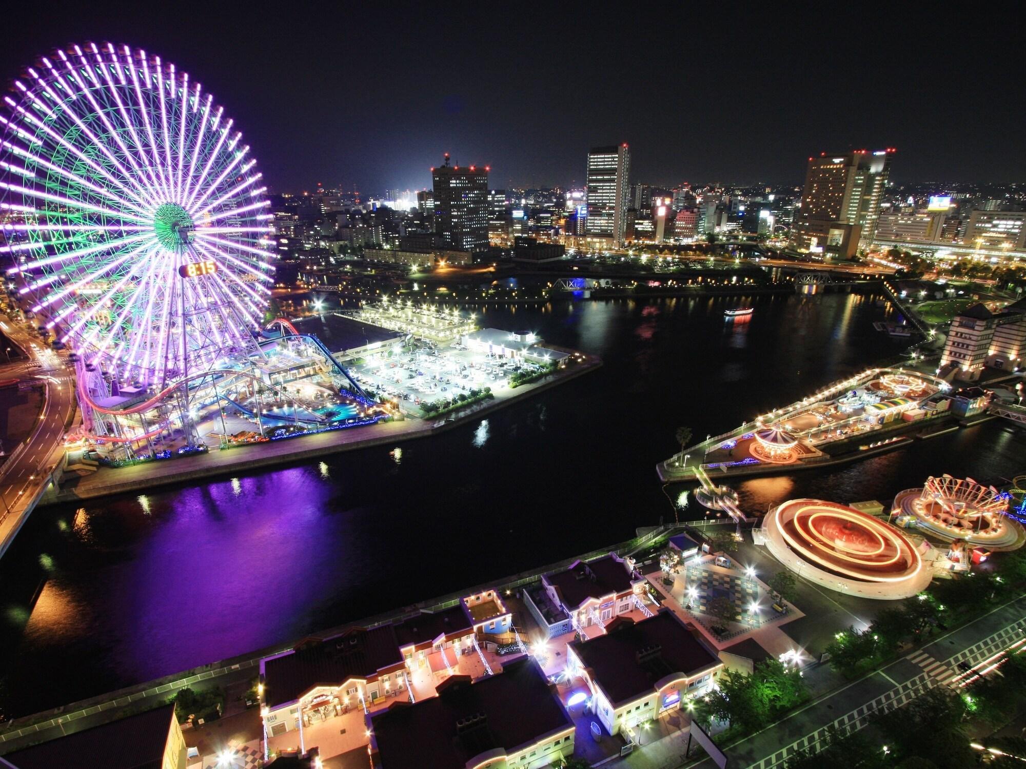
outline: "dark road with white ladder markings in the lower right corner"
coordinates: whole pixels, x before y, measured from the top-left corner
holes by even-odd
[[[1023,638],[1026,597],[987,614],[840,688],[833,689],[765,729],[726,747],[731,764],[751,769],[782,766],[799,750],[819,750],[827,727],[841,733],[864,728],[880,709],[900,707],[935,686],[956,688],[958,663],[986,670],[995,653]],[[813,671],[815,674],[817,671]],[[696,769],[713,769],[705,758]]]

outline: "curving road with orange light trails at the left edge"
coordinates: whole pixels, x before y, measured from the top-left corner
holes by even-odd
[[[64,361],[26,326],[0,316],[0,328],[29,358],[0,366],[0,379],[41,378],[46,390],[43,410],[34,432],[18,449],[6,447],[11,456],[0,467],[2,556],[32,513],[39,492],[45,488],[60,460],[65,432],[75,414],[75,386]]]

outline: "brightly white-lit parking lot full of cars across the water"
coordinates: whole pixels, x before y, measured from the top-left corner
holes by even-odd
[[[439,348],[417,342],[391,358],[367,360],[349,370],[365,390],[394,398],[408,411],[471,390],[500,391],[508,387],[513,373],[530,373],[541,366],[473,353],[460,345]]]

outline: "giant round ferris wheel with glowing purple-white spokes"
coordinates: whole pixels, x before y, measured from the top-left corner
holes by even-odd
[[[0,105],[0,256],[87,364],[161,385],[254,352],[273,282],[267,190],[189,75],[128,46],[43,57]]]

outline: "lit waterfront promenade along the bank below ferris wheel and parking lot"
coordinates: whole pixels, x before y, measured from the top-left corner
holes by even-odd
[[[580,362],[557,370],[539,381],[520,385],[515,389],[503,388],[495,392],[495,397],[490,400],[467,406],[441,417],[407,417],[402,420],[326,431],[156,462],[123,468],[101,468],[91,475],[68,479],[58,490],[48,493],[41,503],[74,502],[155,486],[193,483],[202,478],[233,472],[245,473],[258,468],[302,461],[342,451],[390,446],[400,441],[428,438],[575,379],[601,365],[600,358],[587,355]]]

